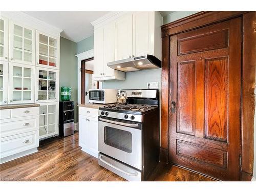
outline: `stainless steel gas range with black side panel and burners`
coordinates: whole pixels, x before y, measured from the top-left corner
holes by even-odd
[[[159,162],[159,91],[121,90],[127,104],[99,108],[99,165],[144,181]]]

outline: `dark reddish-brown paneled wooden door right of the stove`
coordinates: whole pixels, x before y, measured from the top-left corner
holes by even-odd
[[[170,36],[169,161],[240,178],[241,18]]]

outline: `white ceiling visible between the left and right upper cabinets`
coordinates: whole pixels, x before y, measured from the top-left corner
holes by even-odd
[[[109,11],[23,11],[54,27],[62,29],[60,36],[78,42],[93,35],[91,22]]]

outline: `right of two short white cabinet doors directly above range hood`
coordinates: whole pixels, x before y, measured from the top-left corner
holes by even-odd
[[[154,11],[133,14],[133,55],[154,55]]]

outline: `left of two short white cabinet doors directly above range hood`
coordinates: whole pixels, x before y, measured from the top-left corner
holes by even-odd
[[[125,14],[115,22],[115,60],[132,57],[133,15]]]

